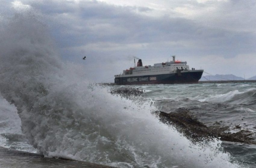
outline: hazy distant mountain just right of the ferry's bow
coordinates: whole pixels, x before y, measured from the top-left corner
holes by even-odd
[[[256,76],[254,76],[254,77],[256,79]],[[235,76],[233,74],[229,74],[229,75],[216,74],[214,76],[213,75],[202,76],[199,81],[206,81],[206,80],[244,80],[244,78]]]

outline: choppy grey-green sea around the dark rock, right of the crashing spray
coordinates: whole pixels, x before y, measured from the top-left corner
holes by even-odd
[[[188,109],[206,125],[228,126],[230,132],[256,132],[256,83],[205,83],[137,85],[142,97],[151,98],[158,110],[171,113]],[[241,127],[239,130],[237,126]],[[248,167],[256,167],[256,146],[222,142],[224,151]]]

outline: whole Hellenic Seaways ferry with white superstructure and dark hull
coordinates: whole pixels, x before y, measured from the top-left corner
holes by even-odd
[[[116,85],[142,85],[142,84],[175,84],[197,83],[204,70],[189,68],[187,62],[175,60],[154,64],[154,66],[142,66],[139,59],[137,66],[123,70],[120,75],[115,75]]]

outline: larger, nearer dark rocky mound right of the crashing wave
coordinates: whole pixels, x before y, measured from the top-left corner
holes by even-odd
[[[220,123],[217,122],[217,125],[206,126],[196,118],[193,118],[193,115],[186,109],[180,109],[176,111],[176,113],[156,111],[153,114],[157,115],[161,122],[168,125],[174,125],[180,133],[184,134],[192,140],[192,142],[220,138],[220,140],[223,141],[256,144],[254,138],[251,137],[251,135],[255,133],[248,130],[241,130],[234,134],[230,134],[227,133],[229,127],[220,126]],[[239,128],[239,126],[236,128]]]

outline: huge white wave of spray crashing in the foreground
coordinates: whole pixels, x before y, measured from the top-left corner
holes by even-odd
[[[45,156],[117,167],[239,167],[220,141],[192,144],[151,115],[151,102],[89,85],[63,63],[33,11],[1,30],[0,91],[17,107],[23,134]]]

